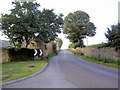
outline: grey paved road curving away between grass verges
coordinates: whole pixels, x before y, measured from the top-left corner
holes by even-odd
[[[61,51],[42,73],[3,88],[118,88],[118,70]]]

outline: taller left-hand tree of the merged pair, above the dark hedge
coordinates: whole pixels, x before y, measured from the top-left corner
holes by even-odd
[[[2,32],[8,36],[14,47],[20,48],[23,42],[28,46],[35,37],[36,27],[34,17],[40,6],[33,2],[12,2],[14,9],[10,14],[2,15]]]

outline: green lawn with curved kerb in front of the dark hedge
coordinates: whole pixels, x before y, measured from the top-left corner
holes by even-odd
[[[2,64],[2,75],[9,75],[9,77],[3,79],[3,82],[15,80],[33,74],[42,69],[46,63],[47,62],[45,60],[4,63]],[[29,67],[29,65],[34,65],[34,67]]]

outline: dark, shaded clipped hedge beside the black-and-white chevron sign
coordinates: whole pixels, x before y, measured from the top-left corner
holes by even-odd
[[[8,49],[8,55],[9,60],[12,61],[27,61],[27,60],[33,60],[34,56],[33,49],[27,49],[27,48],[10,48]]]

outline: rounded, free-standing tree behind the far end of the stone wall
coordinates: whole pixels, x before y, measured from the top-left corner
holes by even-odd
[[[75,47],[83,46],[83,38],[94,36],[96,27],[90,22],[90,17],[86,12],[76,11],[69,13],[64,20],[63,33],[67,38],[75,43]]]

